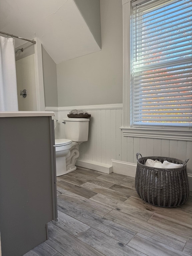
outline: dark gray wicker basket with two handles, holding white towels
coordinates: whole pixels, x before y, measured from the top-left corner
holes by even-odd
[[[138,159],[138,156],[141,158]],[[135,189],[138,195],[146,203],[160,207],[176,207],[182,205],[189,196],[189,180],[187,175],[187,159],[179,159],[160,156],[142,157],[136,154],[137,170],[135,177]],[[161,163],[167,160],[175,164],[183,164],[175,169],[160,169],[144,165],[146,160],[158,160]]]

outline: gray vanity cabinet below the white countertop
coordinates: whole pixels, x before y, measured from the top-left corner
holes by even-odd
[[[51,116],[0,118],[2,256],[20,256],[47,240],[57,217]]]

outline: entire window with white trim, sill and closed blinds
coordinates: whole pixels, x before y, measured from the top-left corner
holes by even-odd
[[[124,136],[191,140],[191,0],[122,0]]]

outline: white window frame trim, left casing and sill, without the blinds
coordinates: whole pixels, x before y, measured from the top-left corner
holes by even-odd
[[[131,8],[133,0],[122,0],[123,6],[123,113],[122,126],[120,127],[125,137],[154,138],[168,140],[192,141],[192,127],[172,126],[164,128],[159,125],[156,128],[131,127],[132,114],[130,111],[132,104],[131,93]],[[143,0],[138,0],[138,3]]]

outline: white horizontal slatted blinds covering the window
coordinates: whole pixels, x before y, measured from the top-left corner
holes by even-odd
[[[137,3],[132,3],[132,126],[191,126],[192,2]]]

